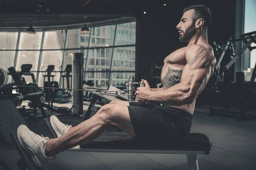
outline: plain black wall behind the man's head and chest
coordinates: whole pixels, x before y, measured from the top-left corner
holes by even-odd
[[[179,0],[144,6],[137,17],[137,63],[136,78],[151,78],[151,63],[163,66],[163,60],[175,50],[186,46],[180,43],[176,26],[186,6],[203,4],[212,12],[208,30],[209,44],[235,37],[236,0]],[[147,13],[143,14],[143,10]],[[217,56],[216,56],[217,57]]]

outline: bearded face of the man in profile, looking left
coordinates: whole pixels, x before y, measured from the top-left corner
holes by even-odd
[[[196,33],[195,23],[192,22],[193,14],[194,9],[186,11],[176,27],[180,34],[180,42],[187,42]]]

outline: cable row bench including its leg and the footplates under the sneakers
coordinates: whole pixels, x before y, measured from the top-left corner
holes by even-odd
[[[49,117],[44,119],[54,138],[57,138]],[[12,132],[12,139],[17,146],[17,150],[22,157],[17,161],[20,170],[42,170],[32,162],[29,155],[21,147],[17,139],[17,130]],[[208,155],[212,143],[207,135],[201,133],[189,133],[186,135],[175,136],[172,140],[149,141],[135,139],[124,132],[104,132],[94,141],[73,147],[66,151],[77,152],[105,152],[105,153],[169,153],[169,154],[186,154],[187,163],[190,170],[199,170],[197,155]]]

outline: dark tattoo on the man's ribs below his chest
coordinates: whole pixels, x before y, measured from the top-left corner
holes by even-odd
[[[177,69],[171,69],[169,67],[168,72],[163,78],[163,86],[165,89],[170,88],[171,86],[174,86],[175,84],[180,83],[180,78],[182,75],[183,70],[177,70]]]

